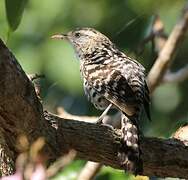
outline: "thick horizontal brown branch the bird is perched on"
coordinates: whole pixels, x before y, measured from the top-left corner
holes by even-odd
[[[122,169],[117,159],[121,133],[111,126],[65,120],[52,114],[58,124],[58,134],[65,137],[69,148],[78,152],[80,158],[114,168]],[[59,139],[60,144],[65,142]],[[143,175],[159,177],[188,177],[188,147],[183,142],[159,138],[144,138],[141,141]]]

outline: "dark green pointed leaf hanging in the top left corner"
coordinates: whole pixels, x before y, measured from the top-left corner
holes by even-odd
[[[20,24],[25,5],[28,0],[5,0],[6,16],[11,31]]]

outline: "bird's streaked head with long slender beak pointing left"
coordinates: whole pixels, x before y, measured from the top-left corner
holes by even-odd
[[[104,44],[111,44],[111,41],[105,35],[93,28],[79,28],[67,34],[53,35],[52,38],[68,40],[81,59],[86,54],[103,49]]]

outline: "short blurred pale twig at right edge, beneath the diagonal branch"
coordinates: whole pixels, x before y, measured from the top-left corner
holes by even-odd
[[[177,72],[167,72],[162,80],[163,83],[182,82],[188,79],[188,64]]]

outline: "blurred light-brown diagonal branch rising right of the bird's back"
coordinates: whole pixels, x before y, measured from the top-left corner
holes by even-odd
[[[188,8],[183,12],[182,18],[174,27],[163,49],[148,75],[148,85],[151,92],[161,82],[176,53],[177,47],[182,42],[188,28]]]

